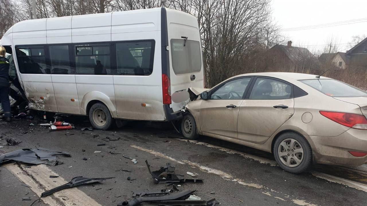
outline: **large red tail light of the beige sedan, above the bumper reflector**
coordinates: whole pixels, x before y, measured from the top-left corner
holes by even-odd
[[[341,125],[348,126],[354,129],[367,130],[367,119],[364,115],[335,111],[320,111],[320,114]]]

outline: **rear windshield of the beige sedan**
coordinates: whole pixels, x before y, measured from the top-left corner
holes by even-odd
[[[367,92],[338,80],[314,79],[299,80],[310,87],[317,89],[327,96],[333,97],[358,97],[367,96]]]

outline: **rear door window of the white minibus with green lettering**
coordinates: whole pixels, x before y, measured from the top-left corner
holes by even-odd
[[[175,74],[188,74],[201,70],[199,41],[171,39],[172,67]]]

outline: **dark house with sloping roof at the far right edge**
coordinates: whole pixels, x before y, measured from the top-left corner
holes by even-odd
[[[367,66],[367,38],[355,45],[345,54],[352,66]]]

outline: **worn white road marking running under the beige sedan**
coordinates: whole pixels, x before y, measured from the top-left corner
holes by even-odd
[[[185,139],[178,139],[178,140],[188,141],[188,140],[185,140]],[[199,145],[203,145],[203,146],[210,147],[210,148],[215,148],[215,149],[218,149],[220,151],[224,151],[224,152],[229,153],[229,154],[240,154],[241,156],[243,156],[245,158],[250,158],[250,159],[253,159],[253,160],[258,161],[260,163],[267,163],[267,164],[270,164],[271,166],[277,166],[276,161],[273,161],[273,160],[270,160],[270,159],[257,157],[257,156],[254,156],[254,155],[249,155],[249,154],[246,154],[246,153],[243,153],[243,152],[226,149],[226,148],[223,148],[223,147],[215,146],[215,145],[212,145],[212,144],[207,144],[207,143],[196,141],[196,140],[189,140],[189,141],[190,141],[190,143],[199,144]],[[345,167],[340,167],[340,166],[337,166],[337,167],[341,168],[341,169],[351,170],[351,171],[354,171],[354,172],[359,172],[359,173],[364,174],[364,171],[361,171],[361,170],[356,170],[356,169],[352,169],[352,168],[345,168]],[[344,179],[344,178],[341,178],[341,177],[336,177],[336,176],[321,173],[321,172],[312,171],[311,174],[313,176],[319,177],[319,178],[327,180],[327,181],[331,181],[331,182],[338,183],[338,184],[343,184],[343,185],[346,185],[348,187],[355,188],[357,190],[367,192],[367,184],[358,183],[358,182],[355,182],[355,181],[352,181],[352,180],[347,180],[347,179]],[[312,206],[312,205],[310,205],[310,206]]]

